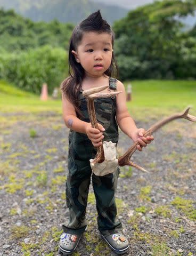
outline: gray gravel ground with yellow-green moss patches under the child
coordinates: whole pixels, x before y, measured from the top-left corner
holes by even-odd
[[[68,220],[65,181],[68,129],[55,113],[1,114],[0,256],[57,256]],[[137,122],[148,127],[154,120]],[[122,167],[116,201],[129,238],[124,255],[196,255],[196,125],[174,121],[133,161],[149,173]],[[132,144],[120,132],[118,154]],[[88,227],[75,256],[116,255],[97,231],[92,185]]]

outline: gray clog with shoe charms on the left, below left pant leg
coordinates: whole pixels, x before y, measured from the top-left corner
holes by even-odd
[[[59,251],[64,255],[69,255],[76,250],[81,235],[68,234],[63,232],[59,241]]]

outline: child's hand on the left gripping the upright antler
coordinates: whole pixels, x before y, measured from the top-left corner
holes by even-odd
[[[88,123],[86,125],[86,135],[88,136],[88,139],[91,140],[94,147],[99,147],[102,145],[102,139],[104,138],[103,132],[105,129],[101,124],[98,124],[99,130],[96,128],[93,128],[91,123]]]

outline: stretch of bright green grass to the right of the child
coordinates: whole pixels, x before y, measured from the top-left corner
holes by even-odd
[[[125,82],[125,86],[129,82]],[[130,113],[142,119],[164,116],[195,107],[196,81],[133,81],[132,101],[127,103]]]

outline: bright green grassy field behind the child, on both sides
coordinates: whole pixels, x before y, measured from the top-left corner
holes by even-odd
[[[125,86],[130,82],[125,82]],[[186,106],[195,108],[196,81],[133,81],[132,101],[127,102],[134,118],[163,116],[181,111]],[[30,112],[56,111],[61,113],[61,100],[40,101],[39,97],[23,92],[0,81],[0,111]]]

